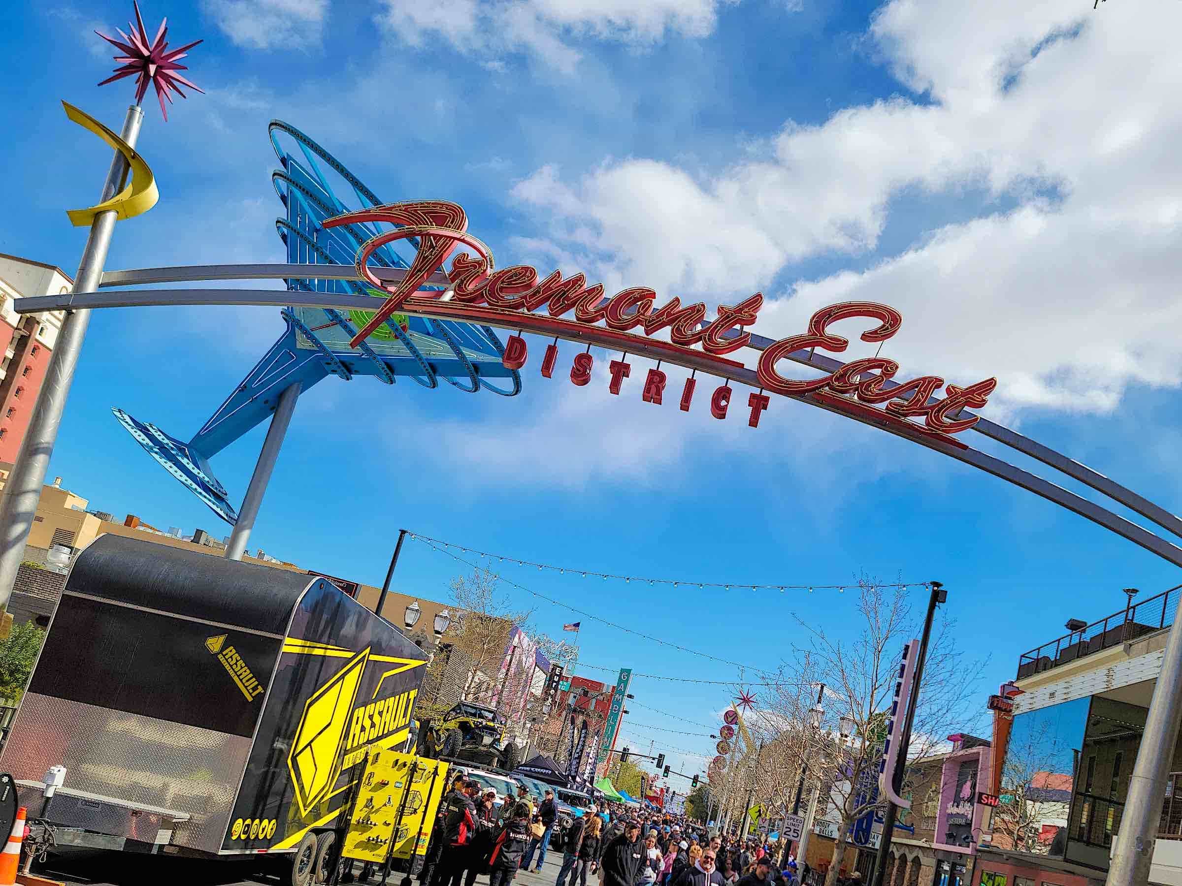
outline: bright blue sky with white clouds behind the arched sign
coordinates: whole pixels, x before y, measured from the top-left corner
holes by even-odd
[[[987,416],[1167,508],[1178,500],[1174,0],[1018,13],[934,0],[149,0],[144,13],[149,28],[167,15],[177,43],[206,38],[190,77],[207,95],[167,124],[148,109],[139,150],[162,198],[119,224],[111,268],[281,259],[266,136],[278,117],[385,200],[460,202],[505,265],[712,304],[762,291],[758,331],[773,337],[824,304],[895,305],[904,325],[886,352],[904,373],[996,376]],[[84,232],[65,209],[92,202],[108,155],[58,100],[118,128],[130,90],[95,86],[110,63],[90,31],[129,14],[106,0],[9,13],[0,250],[77,266]],[[262,310],[97,313],[51,474],[104,510],[225,534],[110,408],[188,437],[280,331]],[[963,677],[982,705],[1067,618],[1115,612],[1122,587],[1177,582],[1074,515],[800,404],[774,399],[749,429],[642,404],[638,383],[611,397],[602,374],[573,387],[534,361],[525,380],[511,400],[323,382],[300,400],[252,549],[370,584],[398,527],[684,580],[940,579],[961,645],[988,658]],[[232,499],[261,436],[214,462]],[[396,582],[440,599],[457,568],[411,545]],[[849,592],[518,580],[751,667],[790,653],[794,614],[838,633],[855,617]],[[556,633],[571,619],[547,604],[533,620]],[[589,664],[739,677],[583,621]],[[635,692],[704,724],[727,697],[651,679]],[[643,709],[631,719],[677,725]],[[660,750],[662,735],[626,737]]]

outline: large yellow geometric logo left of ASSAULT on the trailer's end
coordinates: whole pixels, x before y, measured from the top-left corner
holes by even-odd
[[[345,730],[368,662],[369,650],[365,649],[304,705],[304,716],[287,755],[287,769],[304,815],[323,799],[340,775]]]

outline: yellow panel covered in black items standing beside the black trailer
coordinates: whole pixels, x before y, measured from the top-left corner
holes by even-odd
[[[414,754],[370,748],[345,834],[346,859],[381,864],[426,855],[448,764]]]

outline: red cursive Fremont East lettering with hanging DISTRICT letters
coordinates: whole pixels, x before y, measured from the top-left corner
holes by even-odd
[[[683,306],[680,299],[673,298],[656,307],[656,292],[643,286],[622,289],[608,298],[602,284],[589,286],[583,274],[564,278],[560,271],[554,271],[541,279],[538,271],[527,265],[495,271],[488,247],[467,233],[467,214],[456,203],[447,201],[413,201],[362,209],[327,219],[324,227],[378,222],[400,227],[363,242],[357,250],[356,266],[362,278],[388,292],[389,298],[358,330],[350,341],[353,347],[364,343],[395,312],[485,323],[517,328],[519,333],[530,331],[553,335],[554,343],[546,345],[540,364],[541,374],[552,378],[558,363],[557,340],[585,341],[586,351],[576,353],[571,361],[572,384],[582,386],[590,383],[595,366],[595,357],[590,352],[592,344],[619,350],[621,358],[608,364],[608,390],[618,395],[624,379],[631,377],[632,366],[626,356],[639,353],[657,359],[657,366],[648,370],[641,389],[641,398],[645,403],[664,403],[669,377],[661,370],[662,361],[727,379],[709,395],[710,415],[715,418],[727,416],[733,395],[729,379],[749,374],[742,363],[726,354],[751,344],[749,327],[755,324],[764,304],[761,293],[734,306],[720,305],[717,315],[707,321],[704,304]],[[398,282],[378,279],[368,265],[369,258],[387,243],[408,239],[417,239],[418,252],[405,276]],[[448,272],[450,286],[444,292],[422,289],[457,245],[474,249],[479,258],[461,252],[452,262]],[[994,378],[963,387],[950,383],[944,385],[944,379],[939,376],[920,376],[896,383],[894,378],[898,364],[877,356],[852,360],[820,378],[794,379],[781,374],[780,361],[793,352],[816,348],[831,353],[845,351],[849,339],[829,327],[853,318],[873,321],[860,334],[862,340],[868,343],[885,341],[898,332],[903,323],[895,308],[868,301],[843,302],[817,311],[806,332],[780,339],[760,354],[754,378],[760,390],[752,391],[747,397],[751,410],[747,423],[752,428],[759,425],[760,415],[771,403],[764,390],[788,397],[813,398],[836,411],[863,417],[869,409],[879,421],[903,426],[911,434],[941,439],[948,439],[978,422],[976,416],[957,415],[966,408],[983,406],[996,387]],[[654,338],[658,334],[661,338]],[[520,334],[509,335],[502,356],[505,366],[521,369],[527,359],[526,340]],[[678,408],[684,412],[693,405],[696,385],[696,377],[691,374],[684,379],[677,395]],[[944,396],[937,398],[935,395],[941,387]],[[885,404],[884,409],[873,409],[882,404]]]

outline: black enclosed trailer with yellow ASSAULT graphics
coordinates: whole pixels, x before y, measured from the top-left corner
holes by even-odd
[[[407,744],[423,665],[322,578],[104,535],[70,572],[0,770],[59,845],[314,860],[364,748]]]

